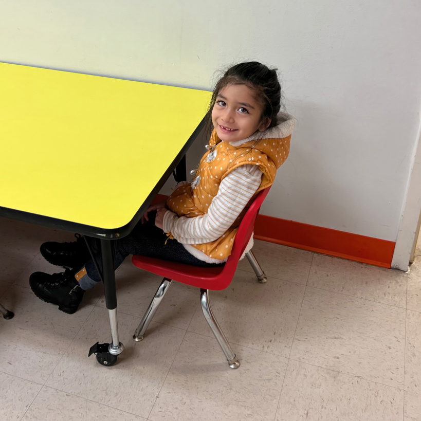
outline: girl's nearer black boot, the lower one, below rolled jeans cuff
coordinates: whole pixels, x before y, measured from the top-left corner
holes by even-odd
[[[75,270],[70,269],[52,275],[34,272],[29,277],[29,285],[38,298],[58,305],[59,310],[68,314],[76,312],[85,292],[75,279]]]

